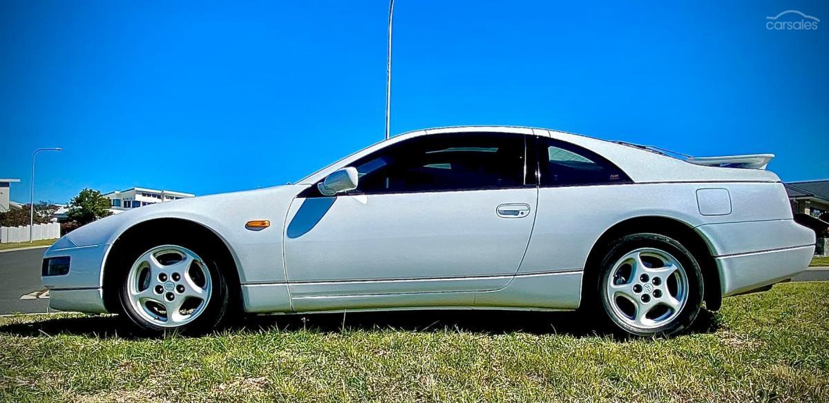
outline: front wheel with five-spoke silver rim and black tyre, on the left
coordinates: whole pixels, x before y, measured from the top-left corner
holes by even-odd
[[[119,301],[139,331],[200,334],[223,322],[230,305],[228,282],[221,259],[203,245],[159,239],[122,255]]]

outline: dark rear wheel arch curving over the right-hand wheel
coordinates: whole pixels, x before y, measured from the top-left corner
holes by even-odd
[[[658,233],[672,237],[681,242],[696,258],[702,271],[705,287],[705,306],[708,309],[720,309],[722,295],[720,294],[720,273],[717,270],[715,250],[705,235],[696,231],[690,224],[677,218],[667,216],[640,216],[627,218],[608,228],[590,248],[587,261],[584,263],[584,277],[581,293],[584,297],[589,293],[590,285],[599,281],[597,274],[599,265],[607,252],[609,243],[619,237],[632,233]]]

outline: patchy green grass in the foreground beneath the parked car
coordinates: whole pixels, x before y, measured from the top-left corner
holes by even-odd
[[[114,317],[0,318],[0,401],[829,401],[829,283],[725,300],[696,333],[579,314],[271,316],[201,338]]]

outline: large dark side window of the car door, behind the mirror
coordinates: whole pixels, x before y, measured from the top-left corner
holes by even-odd
[[[474,190],[524,185],[524,136],[414,137],[355,161],[356,193]]]

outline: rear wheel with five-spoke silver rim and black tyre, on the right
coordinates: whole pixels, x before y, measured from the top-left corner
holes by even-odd
[[[594,302],[613,333],[671,337],[700,314],[702,271],[671,237],[634,233],[611,243],[599,266]]]

